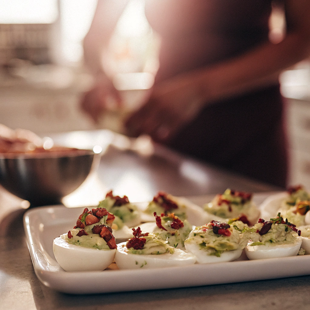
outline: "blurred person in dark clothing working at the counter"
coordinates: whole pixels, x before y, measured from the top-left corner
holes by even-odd
[[[147,102],[126,120],[129,135],[148,134],[184,154],[277,186],[286,186],[287,152],[279,73],[305,59],[310,1],[281,0],[287,32],[268,40],[271,0],[147,0],[161,35],[160,67]],[[99,0],[84,40],[96,86],[82,108],[95,120],[120,96],[102,70],[102,51],[125,0]]]

